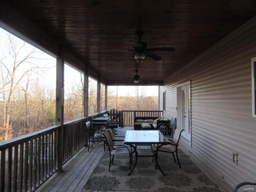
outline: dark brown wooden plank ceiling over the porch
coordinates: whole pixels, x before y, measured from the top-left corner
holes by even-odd
[[[73,52],[110,84],[133,84],[138,67],[144,84],[161,84],[204,50],[256,14],[255,0],[6,0],[51,38]],[[132,58],[137,30],[154,52]],[[142,82],[143,83],[143,82]]]

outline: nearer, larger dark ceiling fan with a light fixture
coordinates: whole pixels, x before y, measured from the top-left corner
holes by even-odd
[[[140,41],[140,38],[142,37],[143,32],[138,31],[137,34],[138,34],[138,37],[139,37],[139,41],[133,43],[132,45],[134,47],[134,50],[129,50],[129,51],[134,52],[133,57],[139,63],[143,62],[146,59],[146,57],[150,57],[150,58],[152,58],[156,61],[159,61],[159,60],[162,59],[162,57],[157,56],[157,55],[155,55],[153,53],[150,53],[150,52],[155,52],[155,51],[173,52],[173,51],[175,51],[175,49],[173,47],[162,47],[162,48],[149,48],[149,49],[147,49],[148,44],[145,43],[145,42]]]

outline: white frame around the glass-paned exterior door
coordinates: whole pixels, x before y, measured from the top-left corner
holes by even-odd
[[[192,147],[192,128],[191,128],[191,81],[187,81],[184,82],[182,84],[178,84],[176,86],[177,88],[177,127],[181,127],[181,108],[180,108],[180,102],[181,102],[181,87],[182,86],[186,86],[186,90],[189,88],[190,92],[188,93],[187,97],[188,97],[188,114],[187,116],[187,122],[188,122],[188,126],[187,126],[187,130],[188,130],[188,136],[190,137],[190,147]]]

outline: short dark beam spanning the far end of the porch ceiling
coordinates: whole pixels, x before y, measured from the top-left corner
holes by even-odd
[[[108,86],[135,86],[133,80],[128,81],[107,81]],[[141,81],[138,86],[162,86],[163,81]]]

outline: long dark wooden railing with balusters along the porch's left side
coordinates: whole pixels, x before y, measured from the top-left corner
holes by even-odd
[[[108,111],[64,123],[64,146],[59,146],[61,126],[52,126],[31,134],[0,142],[0,191],[34,191],[60,167],[63,147],[65,164],[87,144],[85,122]]]

